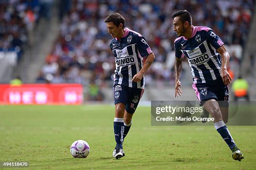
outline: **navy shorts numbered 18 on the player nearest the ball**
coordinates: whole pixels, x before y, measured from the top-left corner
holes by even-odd
[[[132,88],[120,84],[114,85],[114,100],[115,104],[125,104],[125,110],[133,114],[138,106],[138,103],[143,95],[144,89]]]

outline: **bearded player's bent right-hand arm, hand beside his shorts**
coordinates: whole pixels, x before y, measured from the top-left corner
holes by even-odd
[[[228,62],[229,62],[229,53],[225,46],[221,46],[217,49],[218,53],[221,55],[221,69],[220,69],[220,76],[223,79],[225,85],[229,85],[232,81],[231,76],[229,75],[228,69]]]

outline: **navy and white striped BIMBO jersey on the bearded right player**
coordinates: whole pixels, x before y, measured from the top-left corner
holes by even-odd
[[[174,41],[175,56],[186,56],[191,67],[195,84],[207,83],[220,77],[220,55],[216,51],[224,43],[220,37],[205,26],[192,26],[191,38],[176,38]]]

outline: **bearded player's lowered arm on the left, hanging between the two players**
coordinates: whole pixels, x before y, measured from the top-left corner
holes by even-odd
[[[179,81],[181,72],[182,72],[182,63],[183,63],[183,57],[177,58],[175,57],[175,63],[174,63],[174,73],[175,73],[175,97],[181,96],[181,83]]]

